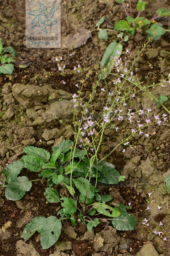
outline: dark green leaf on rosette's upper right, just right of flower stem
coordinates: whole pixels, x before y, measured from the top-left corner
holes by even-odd
[[[101,161],[98,166],[98,170],[100,172],[100,177],[98,177],[98,181],[105,184],[117,184],[119,183],[120,174],[114,169],[114,165],[111,163]]]

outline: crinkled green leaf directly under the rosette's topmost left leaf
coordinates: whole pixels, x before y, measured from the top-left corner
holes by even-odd
[[[34,155],[24,155],[21,158],[21,161],[24,164],[24,167],[30,170],[31,172],[39,172],[44,165],[44,161]]]

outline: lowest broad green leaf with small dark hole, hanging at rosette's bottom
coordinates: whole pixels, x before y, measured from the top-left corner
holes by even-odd
[[[50,248],[57,242],[61,234],[61,220],[55,216],[48,217],[40,230],[40,241],[42,249]]]

